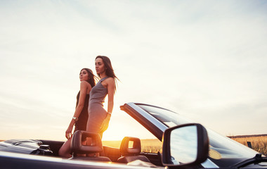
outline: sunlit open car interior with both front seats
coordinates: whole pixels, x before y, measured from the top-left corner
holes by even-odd
[[[82,144],[82,140],[85,138],[91,139],[91,145]],[[48,149],[53,151],[53,156],[58,156],[58,150],[63,142],[40,141],[43,145],[49,145]],[[78,130],[72,136],[71,153],[72,158],[69,160],[114,162],[128,165],[129,163],[134,165],[133,162],[138,161],[138,165],[145,163],[145,165],[150,166],[162,166],[159,154],[141,152],[141,140],[137,137],[124,137],[119,148],[115,148],[103,146],[100,135],[97,133]],[[87,156],[84,156],[85,154]]]

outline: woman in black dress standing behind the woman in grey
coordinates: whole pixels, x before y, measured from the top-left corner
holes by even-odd
[[[77,103],[76,109],[73,115],[72,120],[70,121],[69,127],[65,132],[65,137],[67,141],[61,146],[58,151],[59,156],[63,156],[66,158],[72,157],[70,155],[70,141],[72,138],[72,134],[77,130],[86,130],[86,123],[88,120],[88,106],[89,106],[89,98],[92,87],[96,85],[95,82],[96,76],[93,75],[93,72],[89,68],[83,68],[79,73],[79,79],[81,81],[80,90],[77,94]],[[72,132],[72,128],[75,125],[74,132]],[[86,142],[86,140],[84,140]]]

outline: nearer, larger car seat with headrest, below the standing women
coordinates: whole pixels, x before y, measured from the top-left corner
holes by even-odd
[[[87,137],[91,138],[91,145],[82,145],[82,140]],[[102,141],[100,135],[95,132],[86,132],[78,130],[74,132],[72,136],[72,141],[70,143],[70,151],[72,153],[72,158],[86,161],[110,161],[110,158],[105,156],[77,156],[77,154],[97,154],[103,151]]]

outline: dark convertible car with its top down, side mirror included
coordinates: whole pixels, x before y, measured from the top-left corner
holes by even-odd
[[[128,103],[120,108],[162,141],[162,151],[142,151],[141,140],[127,136],[119,148],[105,146],[98,134],[77,131],[72,137],[73,156],[68,159],[58,156],[63,142],[0,142],[0,168],[267,168],[266,156],[178,113],[148,104]],[[91,145],[82,144],[85,137],[92,140]]]

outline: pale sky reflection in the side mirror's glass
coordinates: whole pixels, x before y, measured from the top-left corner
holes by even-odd
[[[173,162],[193,163],[197,159],[197,127],[195,125],[172,130],[170,139]]]

